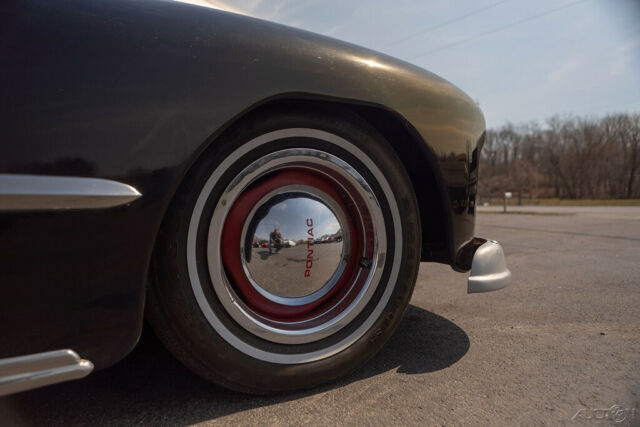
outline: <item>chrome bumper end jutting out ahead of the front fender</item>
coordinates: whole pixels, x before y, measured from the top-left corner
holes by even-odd
[[[510,281],[511,272],[504,260],[502,246],[494,240],[487,240],[473,254],[467,293],[495,291]]]

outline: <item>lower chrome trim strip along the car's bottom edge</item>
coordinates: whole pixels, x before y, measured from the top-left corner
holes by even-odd
[[[0,396],[86,377],[93,363],[73,350],[0,359]]]

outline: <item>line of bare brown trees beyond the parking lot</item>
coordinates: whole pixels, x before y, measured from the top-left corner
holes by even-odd
[[[487,131],[479,194],[570,199],[640,197],[640,114],[555,116]]]

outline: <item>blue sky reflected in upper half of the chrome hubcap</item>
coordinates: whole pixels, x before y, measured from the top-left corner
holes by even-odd
[[[256,237],[267,240],[277,227],[283,239],[306,240],[311,237],[308,234],[311,227],[307,225],[307,219],[313,221],[314,238],[340,230],[338,219],[328,207],[316,200],[298,197],[274,205],[258,224]]]

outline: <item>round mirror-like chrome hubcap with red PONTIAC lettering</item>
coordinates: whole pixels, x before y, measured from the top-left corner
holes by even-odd
[[[349,232],[324,192],[290,185],[267,194],[248,215],[242,262],[254,288],[288,305],[323,297],[347,263]]]

